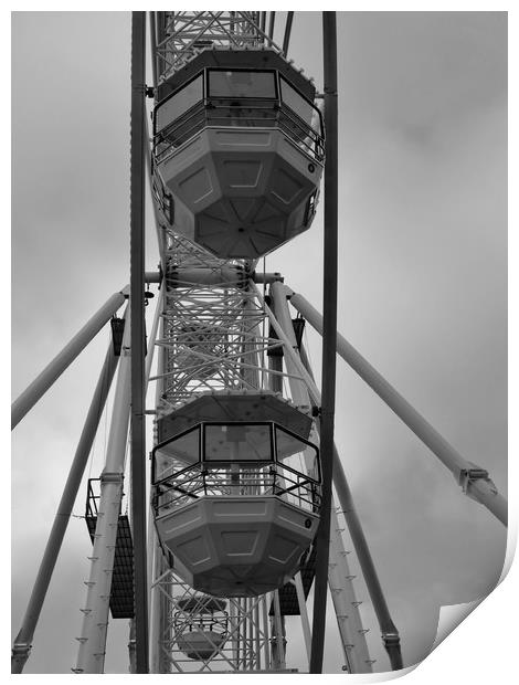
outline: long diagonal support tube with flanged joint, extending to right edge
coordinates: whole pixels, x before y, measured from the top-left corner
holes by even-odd
[[[290,304],[322,335],[322,317],[317,309],[305,297],[289,288],[287,294],[290,296]],[[439,459],[463,487],[464,493],[486,506],[506,526],[507,500],[498,493],[488,472],[465,460],[339,333],[337,354]]]

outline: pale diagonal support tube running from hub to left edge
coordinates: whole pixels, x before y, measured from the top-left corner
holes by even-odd
[[[127,286],[128,287],[128,286]],[[11,405],[11,430],[34,407],[63,371],[74,361],[88,342],[99,333],[103,326],[125,303],[128,295],[127,287],[114,293],[96,314],[76,333],[56,357],[43,369],[30,386],[14,400]]]

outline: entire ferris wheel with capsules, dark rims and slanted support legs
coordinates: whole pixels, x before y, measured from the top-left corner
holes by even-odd
[[[463,492],[506,525],[506,500],[488,472],[463,457],[338,333],[336,17],[322,13],[319,93],[289,59],[293,15],[286,13],[278,44],[272,11],[133,13],[130,285],[103,305],[12,410],[14,428],[109,323],[110,346],[14,641],[14,673],[29,658],[116,371],[106,462],[88,479],[93,548],[76,673],[104,672],[110,614],[130,622],[133,673],[321,673],[328,593],[343,671],[372,672],[343,528],[388,656],[377,670],[404,667],[333,442],[337,355]],[[158,271],[145,271],[146,183]],[[262,267],[266,254],[311,231],[320,204],[322,316],[283,274]],[[146,344],[145,306],[157,286]],[[304,340],[307,325],[322,336],[321,387]],[[155,405],[147,410],[153,383]],[[147,413],[153,419],[148,446]],[[292,633],[301,637],[297,663],[288,657]]]

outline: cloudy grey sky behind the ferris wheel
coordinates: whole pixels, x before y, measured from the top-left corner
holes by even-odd
[[[129,27],[129,13],[13,15],[13,397],[128,281]],[[338,29],[339,328],[506,493],[506,14],[342,12]],[[317,13],[297,12],[290,56],[321,87],[319,31]],[[266,260],[319,309],[321,242],[319,214]],[[152,230],[148,244],[153,268]],[[13,634],[108,342],[98,338],[14,433]],[[319,376],[310,331],[308,344]],[[92,475],[105,432],[103,423]],[[506,536],[341,361],[336,438],[414,663],[434,641],[441,604],[495,584]],[[88,551],[74,518],[28,673],[74,664]],[[107,670],[120,673],[126,622],[114,626]],[[330,633],[326,667],[341,664]]]

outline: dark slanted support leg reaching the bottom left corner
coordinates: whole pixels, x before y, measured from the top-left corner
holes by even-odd
[[[110,341],[99,379],[92,398],[91,408],[88,409],[88,413],[86,415],[85,425],[83,426],[80,442],[77,443],[71,471],[63,489],[63,495],[57,506],[57,512],[52,525],[45,551],[43,552],[43,558],[38,570],[36,580],[34,581],[34,588],[29,600],[22,626],[17,635],[17,639],[14,640],[11,673],[22,673],[25,662],[29,658],[34,630],[38,625],[38,620],[40,619],[43,602],[45,601],[52,572],[65,536],[66,526],[68,525],[68,520],[71,518],[72,508],[76,500],[77,491],[80,489],[118,359],[119,358],[114,355],[114,346]]]

